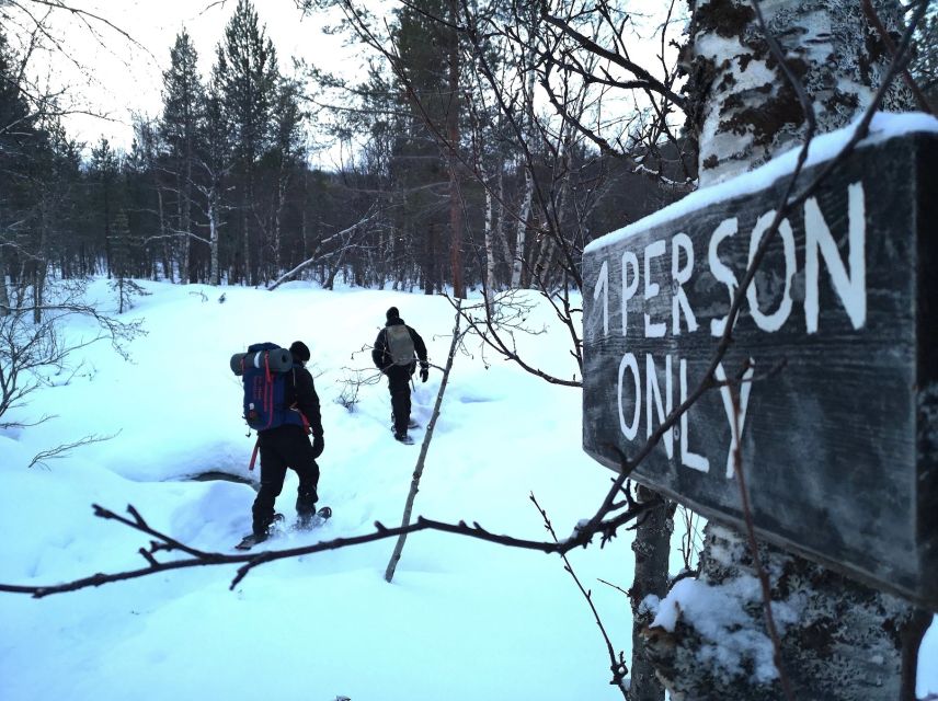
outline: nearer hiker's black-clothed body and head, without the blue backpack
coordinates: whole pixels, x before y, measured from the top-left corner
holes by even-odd
[[[319,397],[312,376],[306,369],[309,348],[296,341],[289,348],[293,369],[286,372],[285,405],[290,415],[276,428],[258,432],[261,450],[261,489],[254,499],[253,533],[256,541],[267,538],[274,522],[274,502],[284,489],[287,468],[299,476],[296,513],[298,525],[307,527],[316,515],[316,487],[319,484],[319,466],[316,459],[322,455],[322,418],[319,415]],[[296,414],[296,415],[294,415]],[[304,421],[306,420],[306,421]],[[306,424],[309,424],[309,430]],[[312,434],[312,443],[309,441]]]

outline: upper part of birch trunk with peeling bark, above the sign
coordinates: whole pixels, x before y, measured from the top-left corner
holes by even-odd
[[[896,36],[899,3],[873,4]],[[768,32],[811,99],[817,131],[849,124],[870,103],[891,60],[861,3],[763,0],[759,7]],[[697,2],[687,49],[685,92],[689,126],[699,139],[701,187],[752,170],[800,143],[804,113],[798,94],[773,56],[748,0]],[[905,110],[910,100],[902,81],[895,81],[881,108]]]

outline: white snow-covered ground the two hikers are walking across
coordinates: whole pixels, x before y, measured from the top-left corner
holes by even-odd
[[[345,380],[373,375],[369,345],[397,306],[444,365],[454,325],[446,299],[391,291],[275,292],[145,284],[151,296],[126,317],[148,332],[131,361],[106,344],[77,353],[69,370],[15,416],[54,418],[0,433],[0,582],[41,585],[144,566],[147,539],[92,514],[133,504],[159,530],[203,550],[233,552],[250,530],[251,486],[196,482],[206,471],[247,476],[253,436],[228,368],[248,344],[301,340],[322,403],[325,451],[320,505],[333,518],[312,533],[285,533],[262,549],[365,533],[400,522],[419,455],[392,440],[384,381],[363,384],[350,412]],[[218,298],[225,292],[225,302]],[[104,283],[92,294],[111,300]],[[551,323],[538,309],[528,323]],[[76,324],[77,337],[88,329]],[[531,361],[571,377],[560,327],[524,340]],[[534,493],[558,533],[591,516],[610,473],[582,452],[581,394],[491,357],[478,344],[456,358],[430,447],[415,514],[479,521],[495,532],[542,539]],[[82,364],[83,361],[83,364]],[[488,363],[487,363],[488,361]],[[75,372],[75,369],[78,371]],[[430,418],[441,372],[414,393]],[[27,469],[41,450],[84,436],[110,440]],[[294,516],[289,473],[278,510]],[[630,538],[571,562],[610,631],[630,654]],[[387,540],[263,565],[234,590],[233,566],[198,567],[35,600],[0,594],[0,699],[134,698],[332,701],[394,699],[619,699],[605,643],[556,556],[456,536],[411,536],[392,584]],[[167,555],[163,554],[163,558]],[[674,566],[678,565],[675,553]],[[919,696],[938,693],[938,631],[922,652]]]

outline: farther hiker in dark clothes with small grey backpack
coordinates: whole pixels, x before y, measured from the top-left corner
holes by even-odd
[[[430,374],[426,345],[420,334],[404,323],[397,307],[391,307],[386,317],[385,327],[378,333],[371,349],[371,360],[375,367],[388,376],[394,438],[410,443],[408,428],[415,427],[410,422],[410,379],[416,369],[414,353],[420,358],[420,379],[426,382]]]

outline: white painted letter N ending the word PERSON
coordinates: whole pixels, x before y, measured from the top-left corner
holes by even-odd
[[[847,274],[837,244],[817,200],[809,197],[804,202],[804,320],[808,333],[817,331],[820,312],[820,260],[824,257],[834,291],[840,298],[854,329],[860,329],[867,321],[867,267],[866,267],[866,206],[863,187],[854,183],[847,188],[848,254],[850,274]]]

